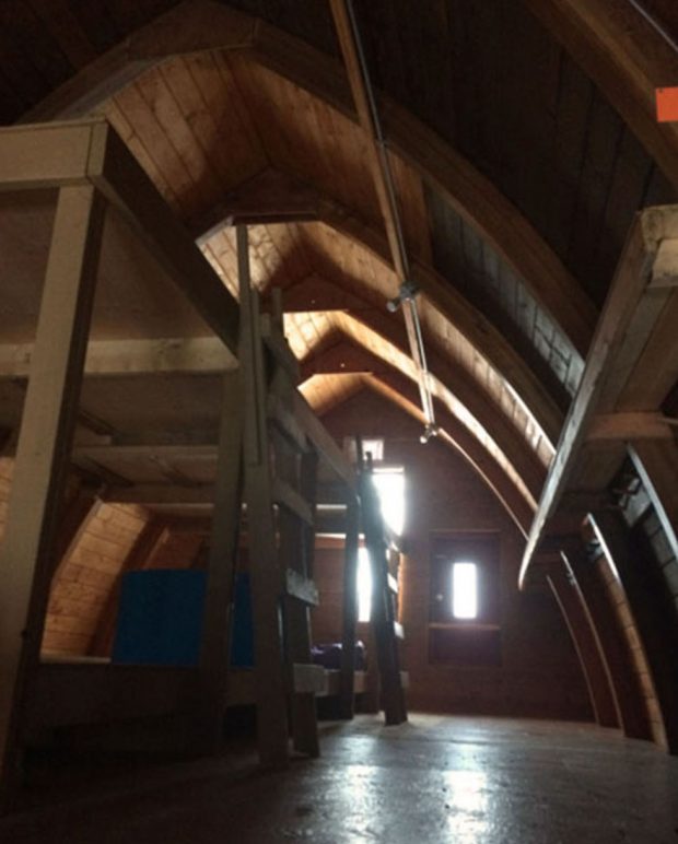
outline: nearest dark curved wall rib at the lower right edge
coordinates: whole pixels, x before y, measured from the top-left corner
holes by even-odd
[[[674,654],[678,629],[667,605],[652,553],[627,527],[621,514],[589,515],[596,537],[612,561],[627,595],[656,690],[668,749],[678,752],[678,677]]]

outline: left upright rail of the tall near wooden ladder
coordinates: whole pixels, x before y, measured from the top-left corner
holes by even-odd
[[[244,472],[254,618],[257,742],[266,766],[289,762],[280,571],[266,426],[266,373],[259,307],[249,278],[247,227],[236,227],[241,294],[238,357],[245,390]]]

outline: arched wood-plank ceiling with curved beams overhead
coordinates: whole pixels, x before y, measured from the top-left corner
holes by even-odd
[[[464,423],[480,443],[475,465],[489,454],[519,485],[523,466],[536,456],[537,477],[552,455],[548,441],[578,385],[635,212],[677,199],[678,165],[666,164],[676,136],[629,119],[624,80],[605,65],[597,74],[598,54],[582,59],[581,44],[551,23],[571,0],[354,4],[423,291],[437,399],[457,421],[475,420]],[[599,7],[592,0],[582,14],[595,17]],[[673,31],[670,0],[644,7]],[[678,59],[631,4],[610,0],[609,9],[610,31],[647,45],[647,78],[665,69],[678,79]],[[218,14],[233,10],[244,16]],[[629,108],[641,94],[630,90]],[[381,310],[395,279],[328,3],[4,0],[0,122],[79,109],[106,114],[195,235],[217,224],[203,248],[226,284],[224,209],[274,197],[272,218],[284,212],[289,224],[256,230],[255,280],[265,292],[292,291],[312,277],[324,294],[306,310],[331,313],[337,292],[349,310],[343,323],[300,321],[315,340],[290,323],[302,331],[291,337],[302,356],[317,361],[348,338],[400,360],[399,317],[389,323]],[[355,317],[362,329],[347,321]],[[348,390],[332,388],[318,365],[307,389],[326,407],[324,389],[337,400]],[[397,379],[381,383],[399,390]],[[538,480],[528,485],[538,492]]]

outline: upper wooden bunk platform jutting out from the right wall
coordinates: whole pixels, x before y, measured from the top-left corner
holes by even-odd
[[[529,532],[525,585],[549,535],[576,532],[634,442],[673,441],[662,403],[678,367],[678,206],[642,211],[629,233]]]

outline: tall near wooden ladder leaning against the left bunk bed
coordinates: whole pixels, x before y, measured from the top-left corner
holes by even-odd
[[[247,230],[237,227],[239,360],[245,384],[244,474],[255,638],[257,740],[264,765],[294,749],[319,753],[315,693],[325,672],[311,659],[317,453],[294,417],[297,363],[282,332],[280,301],[259,315],[249,280]]]

